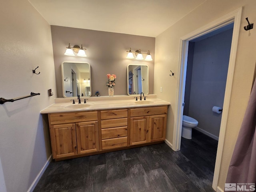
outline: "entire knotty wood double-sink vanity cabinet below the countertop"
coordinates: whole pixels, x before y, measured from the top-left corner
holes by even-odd
[[[162,142],[167,106],[48,114],[52,158],[64,160]]]

